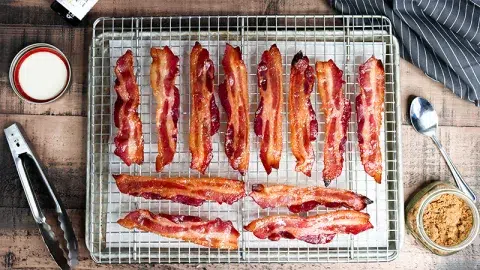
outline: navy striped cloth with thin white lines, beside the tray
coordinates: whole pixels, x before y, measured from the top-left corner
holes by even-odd
[[[385,15],[400,55],[480,106],[480,0],[331,0],[344,14]]]

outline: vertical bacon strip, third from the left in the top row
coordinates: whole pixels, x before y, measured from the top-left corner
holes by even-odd
[[[190,54],[190,168],[204,174],[212,160],[212,136],[220,127],[220,115],[213,96],[215,67],[207,49],[196,42]]]

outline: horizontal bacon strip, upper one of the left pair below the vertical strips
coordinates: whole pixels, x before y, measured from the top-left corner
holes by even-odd
[[[233,204],[245,196],[242,181],[214,178],[157,178],[153,176],[113,175],[120,192],[145,199],[167,199],[200,206],[205,201]]]

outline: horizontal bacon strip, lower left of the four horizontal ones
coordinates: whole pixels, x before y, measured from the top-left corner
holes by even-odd
[[[231,221],[203,220],[195,216],[153,214],[148,210],[130,212],[118,224],[164,237],[192,242],[204,247],[238,249],[240,233]]]

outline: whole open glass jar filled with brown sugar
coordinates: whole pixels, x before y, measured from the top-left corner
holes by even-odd
[[[416,192],[405,214],[411,234],[437,255],[466,248],[480,231],[475,203],[449,182],[435,181]]]

